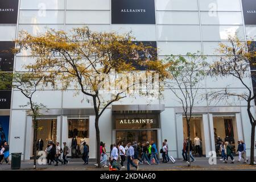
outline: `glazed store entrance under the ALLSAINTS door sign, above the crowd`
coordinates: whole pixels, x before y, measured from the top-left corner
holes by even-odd
[[[137,141],[141,143],[154,141],[157,144],[157,130],[133,130],[133,131],[117,131],[116,142],[123,142],[127,144],[129,142]]]

